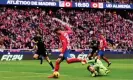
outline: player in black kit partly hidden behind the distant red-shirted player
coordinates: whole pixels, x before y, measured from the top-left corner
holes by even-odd
[[[92,41],[90,42],[90,48],[92,49],[92,52],[88,54],[88,58],[89,60],[92,59],[92,57],[94,58],[95,55],[98,52],[98,48],[99,48],[99,44],[100,42],[97,40],[97,38],[95,36],[92,37]]]

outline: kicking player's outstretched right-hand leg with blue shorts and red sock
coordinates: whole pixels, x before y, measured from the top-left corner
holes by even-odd
[[[75,63],[75,62],[85,62],[85,63],[87,63],[86,60],[82,60],[82,59],[78,59],[78,58],[71,58],[70,50],[66,50],[66,52],[64,53],[64,58],[66,59],[68,64]]]

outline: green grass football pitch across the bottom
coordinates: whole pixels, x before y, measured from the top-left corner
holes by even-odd
[[[57,80],[133,80],[133,59],[111,59],[111,62],[107,76],[91,77],[87,65],[68,65],[64,61]],[[38,60],[0,62],[0,80],[55,80],[47,78],[51,73],[46,61],[42,65]]]

